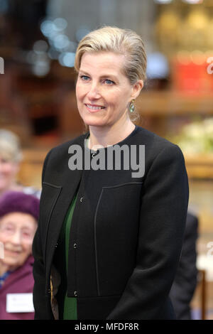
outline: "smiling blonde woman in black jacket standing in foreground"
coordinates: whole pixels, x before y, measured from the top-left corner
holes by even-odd
[[[146,79],[143,41],[116,27],[92,31],[75,69],[89,131],[45,158],[35,319],[173,319],[188,182],[180,148],[131,120]]]

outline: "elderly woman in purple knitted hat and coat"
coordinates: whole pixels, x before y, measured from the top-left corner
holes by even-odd
[[[0,258],[1,320],[34,318],[32,243],[38,214],[39,200],[35,196],[17,191],[1,195],[0,242],[4,246]]]

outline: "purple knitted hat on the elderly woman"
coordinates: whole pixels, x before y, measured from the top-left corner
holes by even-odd
[[[19,191],[7,191],[0,197],[0,217],[12,212],[23,212],[32,215],[38,221],[38,198]]]

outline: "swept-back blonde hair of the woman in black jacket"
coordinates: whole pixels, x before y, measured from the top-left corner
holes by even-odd
[[[131,85],[146,80],[146,51],[140,36],[129,29],[104,26],[91,31],[80,41],[75,55],[75,70],[79,72],[85,52],[108,51],[125,55],[124,74]]]

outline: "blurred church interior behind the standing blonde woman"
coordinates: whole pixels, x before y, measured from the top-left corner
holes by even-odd
[[[203,270],[193,317],[213,319],[213,0],[0,0],[0,128],[21,139],[18,181],[40,188],[48,150],[84,131],[75,50],[104,24],[131,28],[146,44],[138,125],[185,155]]]

